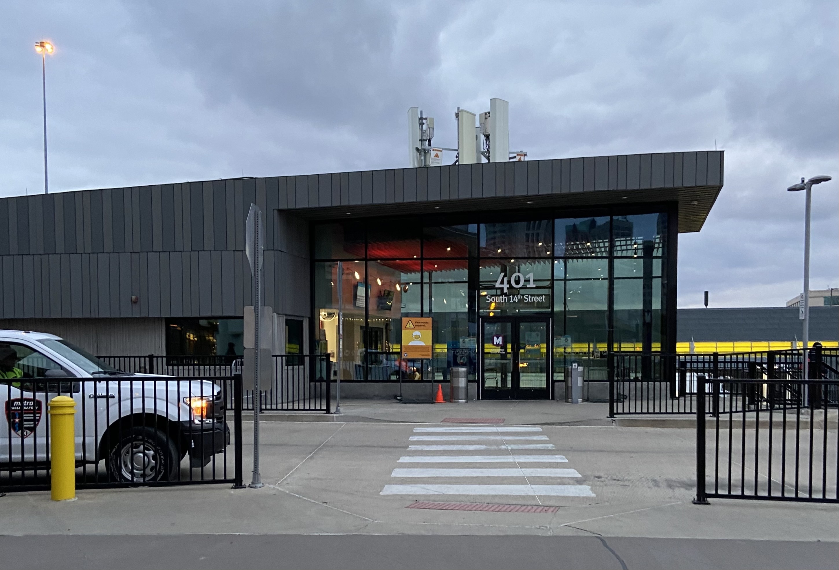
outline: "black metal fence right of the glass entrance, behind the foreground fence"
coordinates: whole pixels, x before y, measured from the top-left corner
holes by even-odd
[[[716,381],[706,392],[707,412],[717,412],[720,396],[730,396],[737,388],[732,381],[802,380],[804,350],[769,350],[733,354],[639,354],[614,353],[607,356],[609,374],[609,417],[626,414],[692,414],[696,412],[697,379]],[[809,351],[809,380],[839,380],[839,350],[813,347]],[[778,386],[778,382],[772,383]],[[790,385],[788,391],[798,390]],[[768,409],[777,398],[764,390],[749,388],[748,405]],[[771,390],[779,390],[777,387]],[[821,392],[820,392],[821,393]],[[713,396],[716,394],[717,396]],[[823,388],[830,406],[839,403],[839,393],[830,384]],[[713,396],[713,397],[711,397]],[[772,401],[772,402],[770,402]],[[737,406],[739,400],[730,401]]]

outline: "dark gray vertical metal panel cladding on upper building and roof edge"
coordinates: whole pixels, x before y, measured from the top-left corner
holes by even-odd
[[[241,315],[251,302],[243,234],[252,202],[265,212],[272,276],[266,303],[280,314],[307,316],[309,223],[300,215],[311,217],[312,209],[340,208],[337,216],[439,202],[462,210],[478,207],[476,199],[611,199],[610,191],[627,189],[672,189],[675,201],[676,190],[718,192],[722,161],[722,151],[620,155],[0,199],[0,319]],[[700,196],[691,219],[704,220],[713,197]]]

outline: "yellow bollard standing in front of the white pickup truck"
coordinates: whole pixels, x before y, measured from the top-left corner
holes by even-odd
[[[68,396],[50,400],[50,476],[52,500],[76,499],[76,402]]]

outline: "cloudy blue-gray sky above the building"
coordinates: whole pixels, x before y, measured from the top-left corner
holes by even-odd
[[[801,176],[839,174],[835,0],[37,2],[0,5],[0,196],[405,166],[405,112],[510,101],[529,158],[722,148],[680,241],[680,307],[800,293]],[[839,186],[816,187],[812,288],[839,287]]]

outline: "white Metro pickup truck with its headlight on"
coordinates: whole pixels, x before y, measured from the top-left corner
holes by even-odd
[[[59,394],[76,400],[76,464],[104,461],[113,481],[180,479],[187,453],[204,467],[230,443],[212,381],[129,374],[53,334],[0,329],[0,473],[49,464]]]

